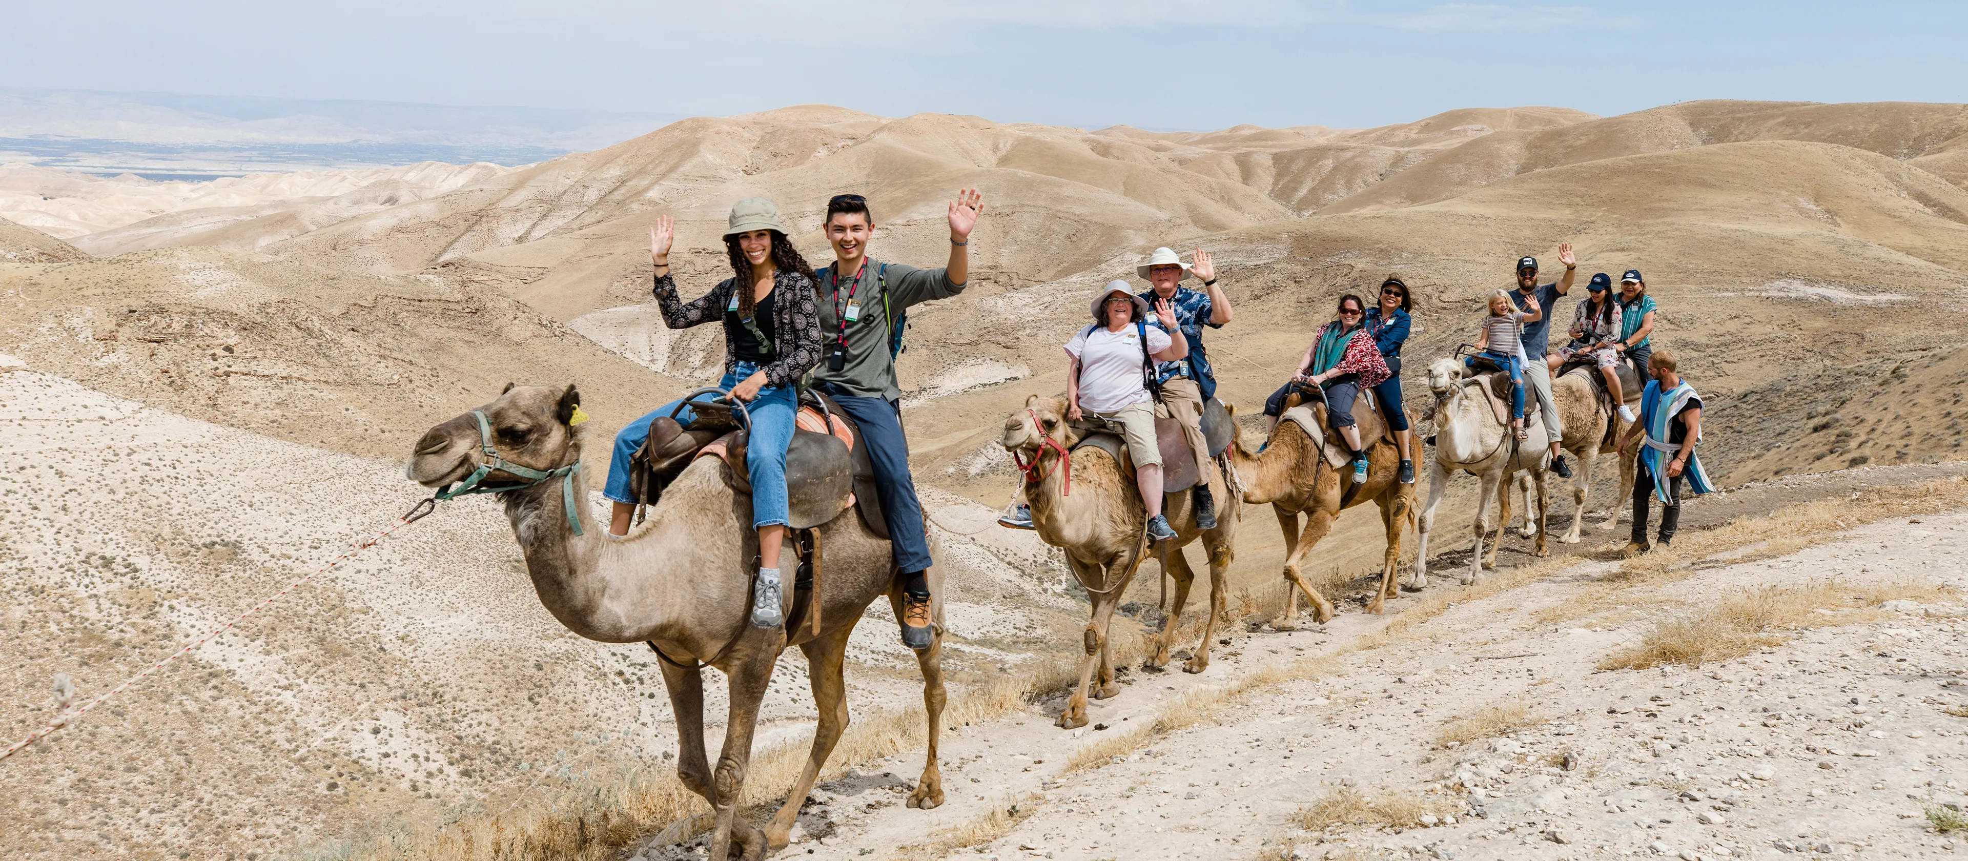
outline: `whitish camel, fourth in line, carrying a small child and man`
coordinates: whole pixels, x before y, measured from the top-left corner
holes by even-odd
[[[1454,358],[1439,358],[1429,366],[1429,391],[1435,395],[1435,458],[1429,462],[1429,501],[1421,507],[1421,550],[1415,556],[1409,590],[1421,592],[1429,584],[1429,533],[1435,529],[1435,507],[1448,491],[1450,472],[1468,472],[1482,482],[1476,497],[1476,546],[1470,550],[1470,570],[1462,584],[1474,584],[1484,566],[1496,568],[1496,548],[1504,529],[1498,529],[1498,543],[1490,545],[1490,558],[1484,560],[1482,545],[1490,539],[1490,503],[1500,495],[1504,484],[1519,470],[1531,476],[1537,486],[1537,554],[1549,554],[1545,546],[1547,511],[1545,468],[1551,466],[1551,442],[1545,436],[1545,423],[1525,421],[1529,434],[1517,440],[1509,427],[1496,419],[1488,395],[1482,393],[1480,379],[1462,379],[1462,364]],[[1504,519],[1500,519],[1504,523]]]

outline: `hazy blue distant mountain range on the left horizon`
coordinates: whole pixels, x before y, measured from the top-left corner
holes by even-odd
[[[523,165],[683,114],[0,86],[0,161],[197,179],[417,161]]]

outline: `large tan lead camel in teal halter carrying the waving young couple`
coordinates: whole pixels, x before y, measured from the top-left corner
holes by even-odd
[[[508,387],[478,411],[486,417],[500,458],[522,468],[555,470],[581,460],[581,430],[569,425],[579,403],[581,395],[573,385],[522,385]],[[407,476],[425,488],[441,488],[464,480],[482,462],[478,419],[466,413],[433,427],[417,440]],[[502,476],[512,478],[504,472],[492,472],[490,478]],[[569,491],[573,505],[565,501]],[[842,511],[819,527],[821,633],[811,635],[809,617],[789,602],[793,641],[787,643],[785,629],[750,623],[752,572],[746,562],[758,554],[758,533],[750,529],[752,501],[730,489],[730,468],[722,458],[699,458],[683,470],[647,521],[626,537],[608,535],[588,513],[586,499],[586,482],[579,472],[571,482],[549,480],[502,493],[506,519],[525,554],[525,570],[539,602],[581,637],[649,643],[659,649],[663,686],[669,688],[669,706],[677,718],[677,776],[716,812],[708,857],[724,859],[732,839],[746,861],[783,847],[801,802],[848,723],[842,678],[848,633],[884,592],[890,594],[895,617],[901,617],[901,598],[892,592],[888,541],[870,533],[854,511]],[[583,535],[575,535],[569,513],[581,519]],[[937,584],[931,586],[937,596],[943,594]],[[941,619],[941,607],[937,617]],[[799,782],[777,816],[758,830],[738,820],[736,802],[752,757],[758,708],[787,645],[807,653],[819,725]],[[941,653],[937,625],[931,647],[917,653],[923,706],[929,712],[929,759],[909,794],[911,808],[943,804],[943,776],[937,769],[937,729],[945,704]],[[701,666],[716,666],[730,682],[730,716],[716,771],[705,757]]]

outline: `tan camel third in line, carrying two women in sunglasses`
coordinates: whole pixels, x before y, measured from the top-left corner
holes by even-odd
[[[1315,403],[1313,415],[1326,423],[1326,405]],[[1368,474],[1366,484],[1352,484],[1352,468],[1334,470],[1324,462],[1317,442],[1295,421],[1279,421],[1271,429],[1271,438],[1263,452],[1244,446],[1238,432],[1232,446],[1230,466],[1238,484],[1244,486],[1244,501],[1271,503],[1277,527],[1285,533],[1285,617],[1271,627],[1289,631],[1299,619],[1299,598],[1291,594],[1293,584],[1305,592],[1313,603],[1315,619],[1324,625],[1332,621],[1332,602],[1313,590],[1305,580],[1305,556],[1313,552],[1340,511],[1374,501],[1380,505],[1380,521],[1387,531],[1387,552],[1382,556],[1380,590],[1368,611],[1380,613],[1387,598],[1395,598],[1395,572],[1401,562],[1401,529],[1415,517],[1415,486],[1399,482],[1401,452],[1385,438],[1366,440]],[[1299,515],[1307,515],[1305,531],[1299,533]]]

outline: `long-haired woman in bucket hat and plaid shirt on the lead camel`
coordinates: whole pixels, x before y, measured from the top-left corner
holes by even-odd
[[[815,309],[813,267],[785,238],[779,208],[764,197],[738,201],[724,230],[724,252],[732,277],[710,293],[681,301],[669,273],[669,246],[675,222],[669,216],[649,228],[649,259],[655,263],[655,305],[669,328],[705,322],[724,324],[724,379],[720,389],[748,401],[752,430],[746,470],[752,478],[752,527],[758,529],[760,572],[752,582],[752,623],[779,627],[785,621],[779,580],[779,548],[785,543],[787,493],[785,448],[793,442],[793,415],[799,411],[797,383],[821,360],[821,318]],[[636,511],[628,491],[630,456],[649,438],[649,421],[671,415],[681,401],[665,403],[632,421],[614,440],[608,486],[614,503],[610,535],[626,535]],[[689,425],[689,409],[677,413]]]

